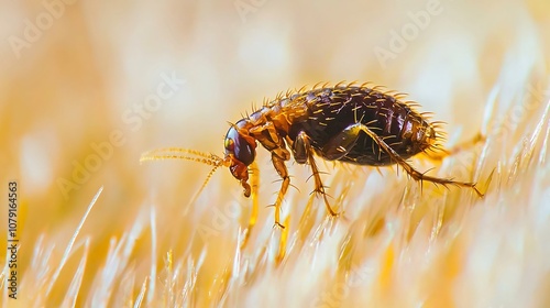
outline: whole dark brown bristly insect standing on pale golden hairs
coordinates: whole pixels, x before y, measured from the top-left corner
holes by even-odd
[[[469,187],[482,196],[473,183],[428,176],[406,162],[420,152],[437,148],[441,133],[428,122],[426,113],[415,111],[414,103],[400,101],[400,97],[364,85],[300,89],[277,96],[249,117],[231,124],[224,140],[224,157],[186,148],[164,148],[147,153],[142,160],[183,158],[209,164],[215,168],[208,178],[219,166],[229,167],[241,183],[244,196],[252,195],[254,200],[248,231],[254,226],[257,215],[257,143],[271,152],[273,166],[283,179],[274,204],[277,226],[280,226],[280,205],[290,185],[285,165],[290,155],[298,164],[310,165],[314,193],[322,196],[332,216],[337,212],[329,205],[316,155],[327,161],[358,165],[397,164],[415,180]],[[177,154],[158,154],[167,152]],[[249,184],[250,174],[252,185]]]

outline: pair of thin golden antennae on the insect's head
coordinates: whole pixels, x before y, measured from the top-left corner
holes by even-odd
[[[189,206],[195,202],[195,200],[198,198],[198,196],[202,193],[205,187],[207,186],[208,182],[212,177],[213,173],[220,167],[220,166],[227,166],[229,162],[227,160],[223,160],[222,157],[211,154],[211,153],[205,153],[196,150],[190,150],[190,148],[182,148],[182,147],[164,147],[164,148],[157,148],[153,150],[150,152],[145,152],[141,155],[140,163],[146,162],[146,161],[162,161],[162,160],[184,160],[184,161],[190,161],[190,162],[197,162],[201,164],[206,164],[209,166],[213,166],[213,168],[208,173],[205,183],[202,183],[202,186],[200,189],[195,193],[193,198],[189,200],[189,204],[187,205],[185,209],[185,213],[187,213],[187,210],[189,209]],[[185,215],[184,213],[184,215]]]

